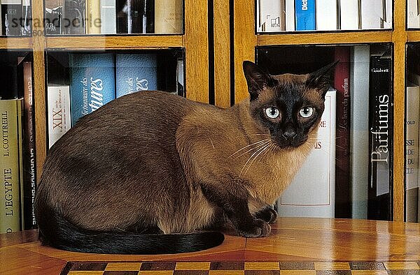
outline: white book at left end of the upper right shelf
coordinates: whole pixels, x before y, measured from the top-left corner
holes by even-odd
[[[286,30],[286,1],[258,0],[258,32]]]

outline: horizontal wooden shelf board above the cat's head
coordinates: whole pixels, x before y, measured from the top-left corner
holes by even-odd
[[[392,31],[350,31],[328,33],[258,34],[257,45],[391,43]]]

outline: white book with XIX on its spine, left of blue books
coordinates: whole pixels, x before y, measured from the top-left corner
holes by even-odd
[[[48,143],[52,147],[71,127],[70,87],[48,86]]]

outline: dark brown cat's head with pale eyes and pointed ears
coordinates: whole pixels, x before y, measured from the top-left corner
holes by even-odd
[[[244,62],[251,115],[278,147],[291,149],[307,142],[321,120],[334,66],[307,75],[268,75],[252,62]]]

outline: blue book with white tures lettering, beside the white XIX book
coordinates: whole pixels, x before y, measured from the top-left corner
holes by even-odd
[[[116,98],[113,54],[70,54],[71,125]]]

